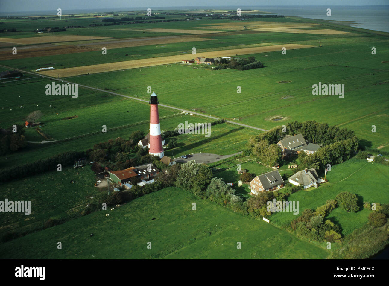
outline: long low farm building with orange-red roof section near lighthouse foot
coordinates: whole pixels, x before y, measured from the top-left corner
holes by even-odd
[[[149,167],[151,165],[151,167]],[[130,167],[119,171],[109,171],[109,179],[119,186],[130,182],[132,177],[138,177],[141,180],[151,179],[159,173],[159,169],[152,164],[144,164],[136,167]]]

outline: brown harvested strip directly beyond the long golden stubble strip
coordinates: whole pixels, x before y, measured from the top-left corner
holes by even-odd
[[[170,37],[115,40],[115,41],[108,41],[108,42],[88,43],[88,44],[79,44],[79,45],[76,44],[75,46],[88,46],[96,49],[102,49],[103,47],[106,47],[107,49],[117,49],[122,47],[138,47],[138,46],[171,44],[171,43],[181,43],[181,42],[207,41],[207,40],[213,40],[213,39],[170,36]]]

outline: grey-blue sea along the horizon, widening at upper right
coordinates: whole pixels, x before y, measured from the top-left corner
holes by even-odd
[[[242,10],[251,9],[264,12],[271,12],[277,15],[284,16],[299,16],[311,19],[324,19],[333,21],[349,21],[353,22],[350,26],[389,32],[389,5],[368,5],[368,6],[340,6],[340,5],[325,5],[325,6],[182,6],[182,7],[121,7],[121,8],[100,8],[100,9],[62,9],[63,15],[68,14],[87,14],[87,13],[103,13],[110,11],[134,11],[147,10],[147,8],[158,10],[183,10],[183,9],[226,9],[228,11],[236,11],[237,8]],[[327,9],[331,9],[331,16],[327,16]],[[4,12],[0,11],[0,17],[9,15],[14,16],[46,16],[56,15],[57,11],[19,11],[19,12]]]

